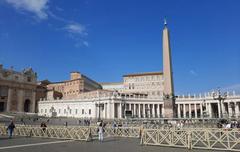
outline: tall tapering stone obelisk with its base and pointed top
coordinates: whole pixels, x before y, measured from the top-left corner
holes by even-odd
[[[176,116],[176,112],[172,75],[172,59],[169,40],[169,30],[167,28],[166,20],[164,20],[163,29],[163,77],[164,77],[164,89],[163,89],[164,117],[174,118]]]

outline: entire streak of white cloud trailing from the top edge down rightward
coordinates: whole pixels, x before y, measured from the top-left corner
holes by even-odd
[[[62,27],[61,30],[67,32],[67,35],[75,41],[76,47],[89,46],[89,43],[85,40],[85,37],[88,35],[86,27],[83,24],[55,15],[55,13],[53,13],[49,8],[50,0],[4,0],[4,1],[9,5],[13,6],[17,11],[30,12],[34,14],[37,17],[37,19],[43,20],[49,17],[49,19],[55,19],[56,21],[64,23],[65,26]],[[63,9],[58,6],[55,7],[55,10],[63,11]],[[50,23],[48,25],[50,27],[53,26]],[[0,35],[0,38],[1,37],[3,36]]]

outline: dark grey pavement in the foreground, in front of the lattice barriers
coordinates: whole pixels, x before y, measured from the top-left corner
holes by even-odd
[[[107,138],[103,143],[97,140],[91,142],[74,140],[56,140],[29,137],[0,137],[0,152],[185,152],[185,148],[171,148],[160,146],[142,146],[139,139]],[[208,150],[191,150],[192,152],[206,152]],[[216,151],[217,152],[217,151]]]

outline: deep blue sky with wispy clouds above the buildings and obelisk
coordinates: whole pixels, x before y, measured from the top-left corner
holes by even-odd
[[[0,0],[0,63],[39,80],[162,71],[163,18],[177,94],[240,90],[238,0]]]

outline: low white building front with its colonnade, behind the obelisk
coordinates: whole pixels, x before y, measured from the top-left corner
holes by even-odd
[[[221,103],[211,93],[199,96],[179,96],[176,99],[176,118],[240,118],[240,95],[228,93]],[[163,99],[141,95],[97,90],[83,93],[78,99],[45,100],[39,103],[39,115],[76,118],[125,119],[165,118]]]

